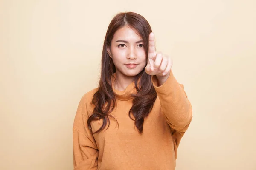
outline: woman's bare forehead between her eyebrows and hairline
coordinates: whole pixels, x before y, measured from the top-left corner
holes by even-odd
[[[113,40],[138,41],[142,39],[140,38],[139,34],[134,31],[134,29],[124,26],[115,32]]]

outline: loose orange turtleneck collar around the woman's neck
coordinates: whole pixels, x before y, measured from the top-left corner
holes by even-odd
[[[119,91],[119,90],[114,88],[115,79],[116,79],[116,73],[114,73],[113,76],[111,76],[112,89],[113,89],[113,92],[115,94],[116,99],[123,100],[123,101],[133,99],[131,94],[136,94],[137,93],[137,90],[135,88],[135,83],[131,82],[131,84],[129,84],[125,88],[124,91]]]

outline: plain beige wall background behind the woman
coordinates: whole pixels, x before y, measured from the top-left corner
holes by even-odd
[[[193,120],[177,170],[256,170],[255,0],[0,0],[0,169],[72,170],[72,126],[117,12],[173,57]]]

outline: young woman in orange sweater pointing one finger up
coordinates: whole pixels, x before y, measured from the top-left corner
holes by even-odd
[[[75,116],[74,170],[175,169],[192,107],[171,68],[144,17],[113,18],[99,87],[84,94]]]

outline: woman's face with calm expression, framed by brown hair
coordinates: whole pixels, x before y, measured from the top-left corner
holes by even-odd
[[[116,74],[133,77],[147,64],[143,41],[128,26],[116,31],[108,47],[108,54],[116,66]]]

